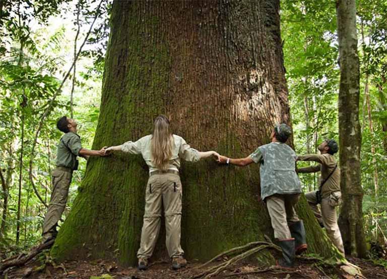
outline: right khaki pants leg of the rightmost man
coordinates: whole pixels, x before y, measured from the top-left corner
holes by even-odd
[[[321,200],[321,213],[322,220],[324,221],[324,227],[327,230],[329,238],[333,244],[344,255],[344,245],[341,238],[339,225],[337,224],[336,209],[329,204],[329,197],[322,198]]]

